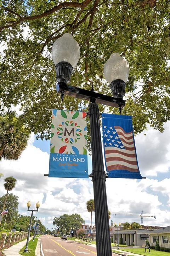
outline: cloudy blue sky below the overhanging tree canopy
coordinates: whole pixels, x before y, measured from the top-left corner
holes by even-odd
[[[107,178],[107,201],[113,222],[138,222],[143,210],[144,225],[168,226],[170,224],[170,122],[164,125],[164,132],[148,127],[143,133],[136,135],[135,144],[138,165],[142,177],[146,179]],[[146,135],[144,135],[144,133]],[[46,228],[51,229],[53,219],[63,214],[77,213],[90,224],[90,213],[86,210],[86,202],[94,198],[91,178],[49,178],[50,141],[36,140],[32,133],[26,150],[18,160],[2,160],[0,172],[0,196],[6,191],[4,178],[16,178],[16,187],[11,191],[18,196],[19,213],[27,212],[27,202]],[[88,157],[88,169],[91,174],[91,156]],[[115,214],[121,212],[123,215]],[[132,215],[126,215],[132,214]],[[95,214],[92,214],[92,225],[95,225]],[[134,216],[137,215],[137,216]],[[52,230],[52,229],[51,229]]]

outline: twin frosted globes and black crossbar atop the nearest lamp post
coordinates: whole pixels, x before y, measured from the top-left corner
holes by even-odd
[[[53,43],[51,53],[58,82],[56,89],[57,92],[61,92],[62,101],[64,95],[69,95],[90,101],[95,98],[95,102],[119,107],[119,110],[125,106],[123,97],[125,95],[125,82],[129,76],[129,64],[118,53],[113,53],[104,64],[104,76],[109,82],[113,97],[68,85],[73,69],[80,58],[79,44],[71,34],[65,33],[58,38]]]

